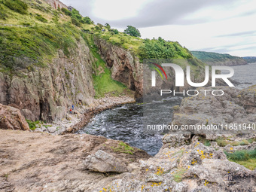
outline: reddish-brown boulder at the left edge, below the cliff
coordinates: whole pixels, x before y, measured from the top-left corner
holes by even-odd
[[[0,104],[0,129],[29,130],[29,124],[19,109]]]

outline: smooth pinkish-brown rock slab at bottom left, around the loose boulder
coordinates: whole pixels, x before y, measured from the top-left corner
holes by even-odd
[[[90,172],[84,160],[97,151],[129,163],[146,160],[144,151],[134,148],[133,154],[114,151],[119,141],[102,136],[31,133],[0,130],[0,191],[98,191],[119,174]],[[108,160],[108,157],[107,157]]]

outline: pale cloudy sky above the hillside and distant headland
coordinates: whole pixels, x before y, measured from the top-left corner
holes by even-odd
[[[178,41],[189,50],[256,56],[255,0],[61,0],[95,23],[142,38]]]

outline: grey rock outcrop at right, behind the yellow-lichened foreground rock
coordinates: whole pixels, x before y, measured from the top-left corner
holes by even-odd
[[[207,89],[211,89],[210,87]],[[204,95],[200,92],[197,96],[190,96],[182,99],[180,107],[175,107],[175,112],[172,116],[172,124],[178,127],[197,126],[194,130],[181,130],[180,135],[197,135],[204,136],[208,140],[218,139],[224,135],[237,135],[239,133],[255,134],[255,130],[243,129],[225,129],[226,125],[231,127],[234,123],[237,126],[244,123],[254,123],[256,116],[255,104],[255,86],[245,90],[237,90],[233,87],[216,87],[218,90],[223,90],[223,96],[213,96],[212,94]],[[255,111],[254,111],[255,110]],[[251,114],[248,114],[251,113]],[[214,130],[198,129],[203,126],[215,126]],[[224,127],[224,129],[222,129]],[[163,137],[164,143],[169,143],[173,147],[181,146],[181,142],[171,142],[168,138],[178,134],[176,130],[169,131],[170,135]],[[186,141],[189,142],[189,139]]]

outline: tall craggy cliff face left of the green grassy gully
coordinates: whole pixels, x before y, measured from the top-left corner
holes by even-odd
[[[19,108],[29,120],[62,119],[73,104],[90,105],[93,56],[84,40],[67,58],[62,50],[45,68],[10,77],[0,73],[0,103]]]

